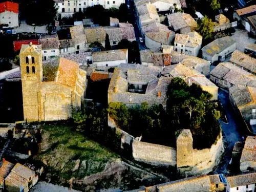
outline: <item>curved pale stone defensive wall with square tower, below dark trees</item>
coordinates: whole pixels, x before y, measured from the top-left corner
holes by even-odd
[[[121,148],[132,146],[132,156],[136,161],[155,165],[177,167],[182,177],[208,174],[220,162],[224,152],[223,138],[220,133],[216,143],[210,148],[197,150],[193,148],[193,137],[190,130],[181,130],[177,137],[177,149],[164,145],[147,143],[135,138],[117,127],[109,116],[108,124],[117,133],[121,133]]]

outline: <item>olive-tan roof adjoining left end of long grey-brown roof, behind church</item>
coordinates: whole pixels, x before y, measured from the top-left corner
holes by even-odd
[[[102,27],[86,27],[84,31],[86,32],[87,42],[89,42],[90,44],[95,41],[105,41],[106,33]]]

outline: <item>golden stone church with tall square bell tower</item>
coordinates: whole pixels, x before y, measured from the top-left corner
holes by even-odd
[[[22,46],[19,59],[25,121],[68,119],[81,107],[86,71],[78,63],[58,58],[55,68],[43,71],[41,45],[31,44]]]

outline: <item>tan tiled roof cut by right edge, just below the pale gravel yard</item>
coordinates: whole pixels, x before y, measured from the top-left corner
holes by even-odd
[[[234,51],[231,55],[230,62],[256,73],[256,59],[241,51]]]

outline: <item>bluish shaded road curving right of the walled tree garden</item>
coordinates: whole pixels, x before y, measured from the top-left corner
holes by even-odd
[[[224,123],[223,121],[219,120],[222,127],[225,153],[221,164],[218,166],[214,173],[224,174],[227,172],[227,165],[232,157],[234,143],[242,140],[242,134],[241,125],[236,119],[236,114],[234,113],[234,110],[229,102],[228,93],[219,89],[218,98],[222,103],[228,123]]]

